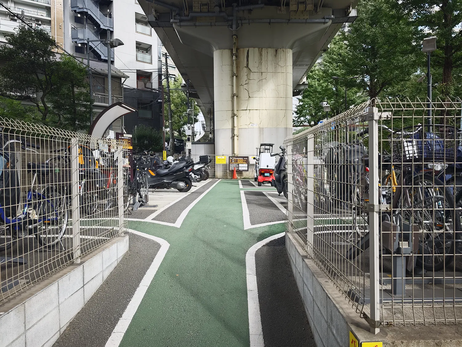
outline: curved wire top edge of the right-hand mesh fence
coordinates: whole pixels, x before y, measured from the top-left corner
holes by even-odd
[[[430,107],[429,107],[430,105]],[[377,108],[377,112],[424,112],[426,110],[433,110],[433,111],[448,111],[448,110],[455,110],[461,111],[462,110],[462,98],[461,97],[447,97],[444,100],[441,98],[436,98],[433,101],[426,98],[425,100],[421,100],[416,97],[414,100],[410,98],[388,98],[385,97],[383,99],[371,99],[367,100],[366,102],[354,106],[346,112],[340,113],[332,118],[328,118],[327,121],[317,124],[310,129],[304,130],[297,135],[291,135],[286,137],[285,143],[289,143],[291,141],[296,141],[298,139],[304,138],[310,134],[316,134],[320,132],[325,132],[326,130],[331,130],[332,124],[341,124],[355,117],[359,117],[367,112],[367,108],[370,106],[374,106]]]

